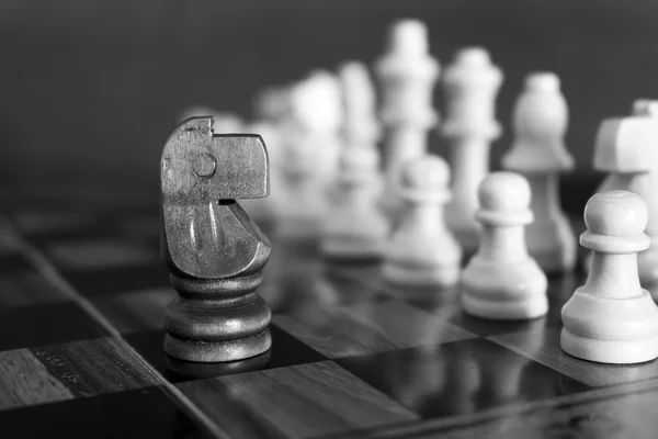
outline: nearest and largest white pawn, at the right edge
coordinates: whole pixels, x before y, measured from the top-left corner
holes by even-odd
[[[593,251],[585,285],[561,311],[561,348],[603,363],[638,363],[658,357],[658,306],[643,290],[637,252],[649,248],[648,210],[632,192],[594,194],[585,206],[580,244]]]

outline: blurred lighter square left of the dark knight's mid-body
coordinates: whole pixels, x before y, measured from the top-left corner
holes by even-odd
[[[160,260],[154,249],[116,238],[52,243],[45,251],[55,264],[68,270],[131,267]]]

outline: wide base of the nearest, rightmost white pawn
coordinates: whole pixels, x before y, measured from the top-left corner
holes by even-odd
[[[628,299],[576,290],[561,311],[560,345],[583,360],[633,364],[658,358],[658,307],[646,290]]]

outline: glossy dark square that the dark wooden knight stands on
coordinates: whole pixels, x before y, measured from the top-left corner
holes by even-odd
[[[281,328],[276,327],[276,325],[270,325],[270,334],[272,335],[272,349],[269,352],[269,361],[262,363],[259,362],[263,368],[276,369],[327,360],[326,357],[286,334]],[[172,367],[169,363],[170,360],[163,349],[164,329],[143,330],[128,334],[125,338],[141,357],[144,357],[160,373],[167,375],[172,382],[193,380],[200,375],[205,376],[213,373],[213,368],[209,367],[196,368],[198,369],[198,373],[191,371],[191,373],[194,374],[188,376],[181,375],[181,373],[178,372],[181,368],[175,364],[173,367],[175,367],[177,370],[172,370]],[[216,368],[216,371],[218,374],[238,373],[243,370],[249,370],[250,368],[251,362],[248,362],[238,364],[232,371],[228,364],[226,368]]]

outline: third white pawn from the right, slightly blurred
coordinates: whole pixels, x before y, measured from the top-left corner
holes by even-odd
[[[404,285],[454,285],[460,279],[462,249],[445,227],[450,168],[436,156],[405,165],[398,193],[406,203],[397,229],[386,245],[384,278]]]

